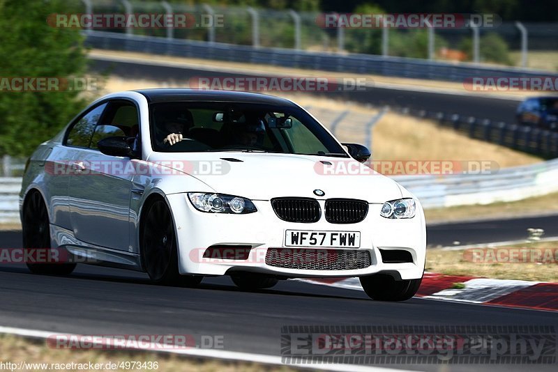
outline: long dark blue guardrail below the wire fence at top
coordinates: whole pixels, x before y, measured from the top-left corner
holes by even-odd
[[[84,31],[86,45],[99,49],[212,59],[243,63],[262,63],[288,68],[342,71],[370,75],[411,77],[464,82],[472,77],[557,77],[558,74],[520,68],[479,66],[473,63],[448,63],[372,54],[307,52],[297,49],[252,47],[219,42],[202,42],[130,35],[104,31]]]

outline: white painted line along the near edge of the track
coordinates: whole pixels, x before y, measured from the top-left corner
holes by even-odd
[[[0,325],[0,333],[13,334],[15,336],[23,336],[32,339],[48,339],[56,334],[64,334],[64,336],[80,336],[79,334],[68,334],[63,332],[49,332],[42,330],[28,330],[25,328],[3,327]],[[107,345],[114,345],[110,337],[105,338]],[[255,354],[251,352],[237,352],[215,349],[199,349],[199,348],[185,348],[185,349],[161,349],[154,347],[141,347],[126,348],[126,350],[134,349],[137,351],[149,352],[162,352],[168,354],[182,355],[186,357],[199,357],[208,359],[221,359],[237,362],[255,362],[262,364],[271,364],[276,366],[292,367],[294,369],[321,369],[322,371],[372,371],[372,372],[393,372],[393,371],[406,371],[402,369],[389,369],[375,366],[359,366],[355,364],[283,364],[281,357],[273,355]],[[410,372],[410,371],[409,371]]]

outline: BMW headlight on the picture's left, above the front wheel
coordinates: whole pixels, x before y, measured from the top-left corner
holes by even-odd
[[[188,192],[188,199],[194,208],[202,212],[246,215],[257,211],[252,201],[240,196],[213,192]]]

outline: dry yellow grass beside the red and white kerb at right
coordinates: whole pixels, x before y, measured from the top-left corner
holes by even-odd
[[[525,243],[504,248],[520,248],[520,252],[530,249],[557,249],[558,242]],[[558,281],[558,257],[547,263],[476,263],[464,258],[464,250],[428,249],[426,270],[448,275],[471,275],[493,279],[518,279],[529,281]],[[520,256],[522,253],[520,253]]]

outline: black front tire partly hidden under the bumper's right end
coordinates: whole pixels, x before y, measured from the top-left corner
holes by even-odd
[[[416,294],[423,280],[422,278],[395,280],[391,275],[386,274],[376,274],[359,279],[368,297],[378,301],[409,300]]]

